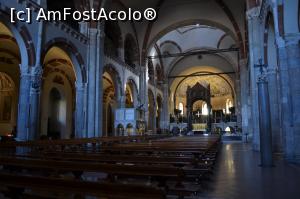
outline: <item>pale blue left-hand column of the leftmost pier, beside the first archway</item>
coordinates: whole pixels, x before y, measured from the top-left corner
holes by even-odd
[[[21,66],[21,68],[22,67],[23,66]],[[18,124],[17,124],[17,139],[19,140],[28,140],[30,80],[31,80],[31,75],[29,71],[22,70],[20,75]]]

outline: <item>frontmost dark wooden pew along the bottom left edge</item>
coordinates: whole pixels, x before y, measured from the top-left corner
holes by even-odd
[[[67,180],[45,178],[37,176],[23,176],[0,173],[0,189],[10,198],[24,198],[24,189],[46,192],[47,197],[53,193],[69,193],[71,195],[90,195],[109,199],[164,199],[166,193],[157,188],[132,184],[118,184],[107,182],[87,182],[80,180]],[[12,189],[18,188],[18,189]],[[31,195],[30,198],[34,198]],[[42,197],[44,198],[44,197]],[[65,198],[54,195],[53,198]]]

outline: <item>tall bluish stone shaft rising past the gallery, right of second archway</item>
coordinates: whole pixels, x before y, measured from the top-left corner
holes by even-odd
[[[97,77],[97,29],[89,29],[88,49],[88,114],[87,114],[87,137],[95,137],[96,133],[96,77]]]

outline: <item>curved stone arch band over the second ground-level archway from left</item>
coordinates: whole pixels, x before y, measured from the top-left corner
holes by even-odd
[[[87,74],[84,59],[77,47],[66,38],[58,37],[46,43],[44,46],[44,51],[41,54],[41,60],[44,60],[46,53],[54,46],[61,48],[70,57],[76,74],[76,82],[85,83],[87,81]]]

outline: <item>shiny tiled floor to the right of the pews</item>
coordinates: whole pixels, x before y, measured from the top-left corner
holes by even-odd
[[[250,145],[224,143],[216,171],[200,199],[300,199],[300,167],[282,160],[259,167]]]

